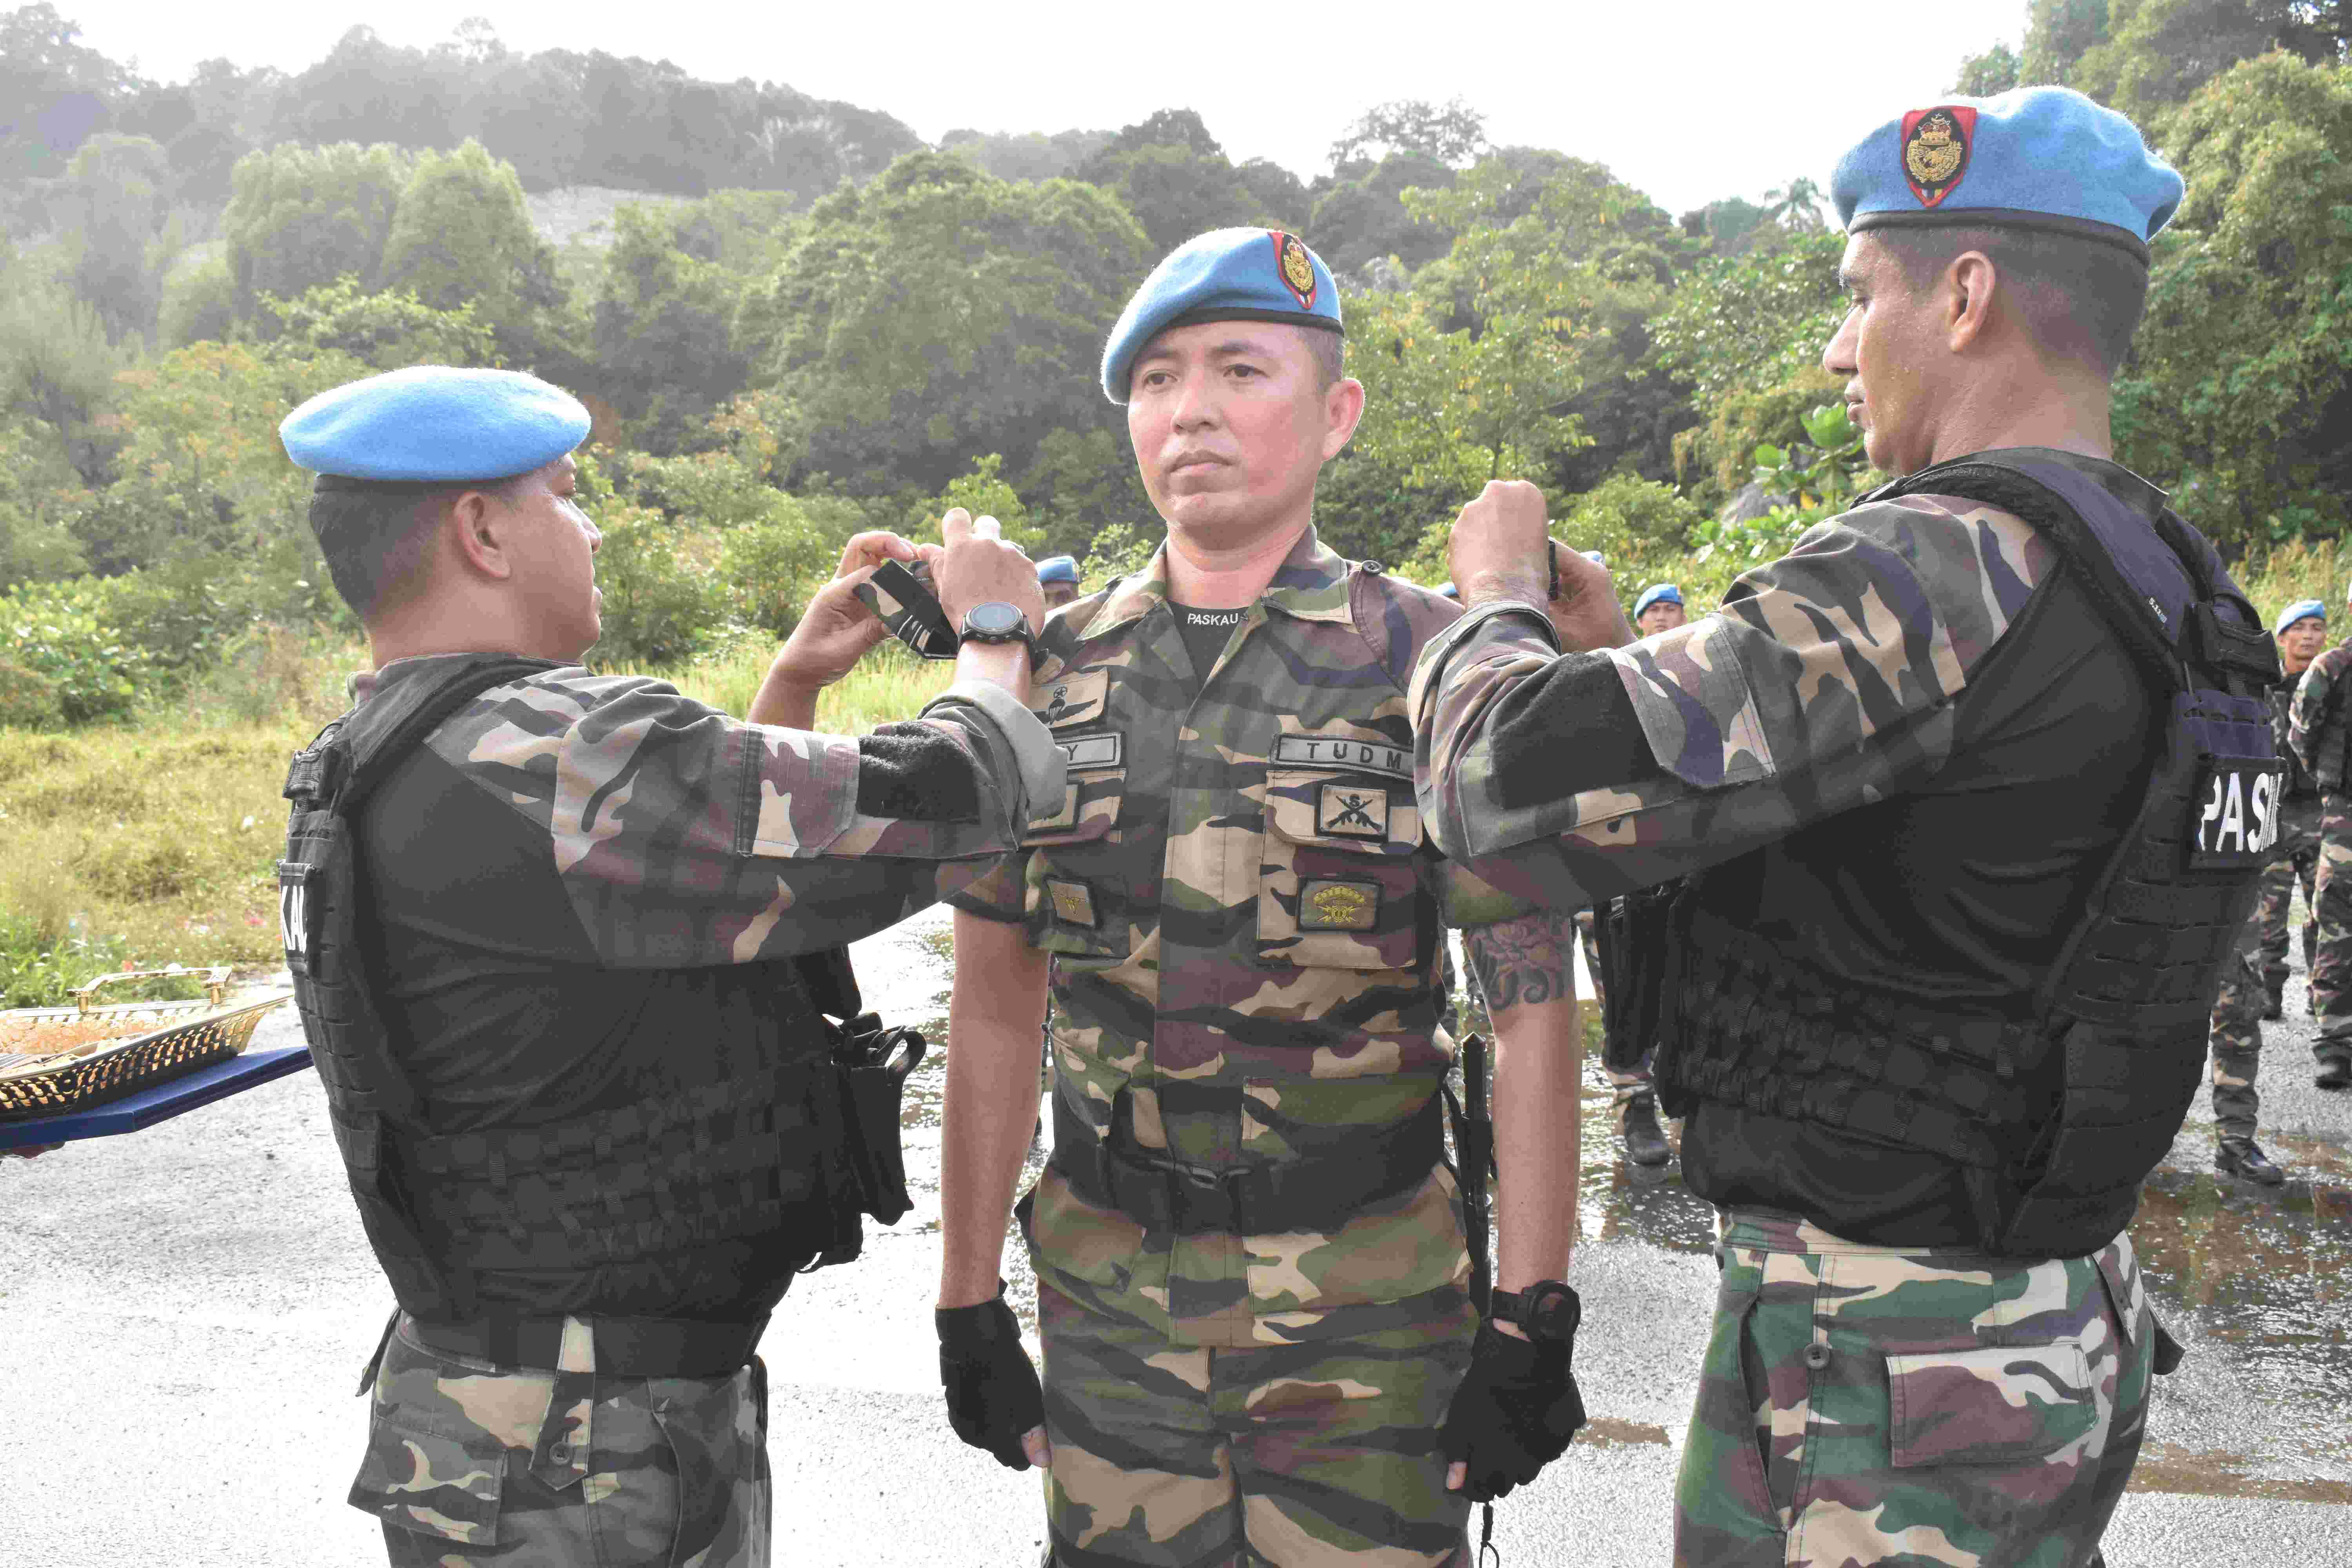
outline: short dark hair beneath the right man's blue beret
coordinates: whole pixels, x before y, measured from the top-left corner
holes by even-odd
[[[1969,252],[1992,261],[2042,357],[2074,360],[2114,378],[2147,310],[2147,266],[2098,240],[2039,228],[1872,228],[1912,294]]]

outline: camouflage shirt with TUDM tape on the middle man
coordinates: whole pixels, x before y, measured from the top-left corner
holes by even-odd
[[[1421,1112],[1446,1072],[1442,910],[1526,905],[1449,867],[1411,792],[1404,682],[1458,609],[1308,531],[1195,677],[1148,571],[1047,623],[1033,703],[1070,764],[1023,856],[950,903],[1054,954],[1056,1095],[1096,1135],[1232,1168]],[[1334,1234],[1164,1234],[1037,1182],[1028,1237],[1073,1300],[1181,1345],[1364,1328],[1468,1279],[1454,1175]]]

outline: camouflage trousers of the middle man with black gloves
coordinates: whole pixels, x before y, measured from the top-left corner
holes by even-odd
[[[1458,1568],[1439,1427],[1468,1302],[1338,1340],[1171,1345],[1037,1286],[1054,1568]]]

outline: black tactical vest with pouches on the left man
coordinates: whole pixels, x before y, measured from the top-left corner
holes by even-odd
[[[546,1302],[501,1300],[499,1314],[564,1312],[579,1309],[581,1276],[597,1265],[691,1267],[691,1253],[715,1241],[757,1244],[781,1295],[793,1267],[854,1258],[858,1246],[828,1034],[793,961],[715,976],[764,987],[764,1067],[750,1079],[713,1070],[696,1081],[682,1065],[623,1107],[435,1135],[400,1067],[372,976],[358,816],[466,703],[550,668],[485,656],[447,682],[393,686],[320,731],[287,773],[292,820],[278,870],[287,969],[360,1220],[400,1305],[426,1321],[482,1314],[487,1269],[546,1281]]]

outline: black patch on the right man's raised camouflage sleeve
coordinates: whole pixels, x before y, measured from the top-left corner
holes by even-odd
[[[1562,654],[1496,698],[1486,726],[1496,804],[1531,806],[1663,776],[1606,654]]]

